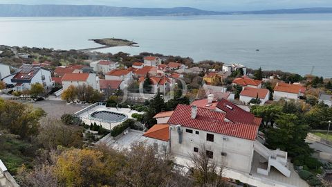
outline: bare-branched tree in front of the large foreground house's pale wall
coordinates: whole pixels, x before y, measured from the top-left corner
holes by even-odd
[[[204,187],[223,187],[226,186],[223,179],[223,161],[211,159],[211,148],[206,148],[205,144],[201,145],[199,152],[190,154],[190,168],[192,168],[192,176],[199,186]]]

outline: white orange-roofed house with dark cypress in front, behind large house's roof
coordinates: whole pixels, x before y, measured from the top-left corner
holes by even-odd
[[[270,97],[270,91],[268,89],[257,89],[252,87],[244,87],[240,93],[240,101],[248,104],[252,99],[261,100],[260,105],[264,105]]]

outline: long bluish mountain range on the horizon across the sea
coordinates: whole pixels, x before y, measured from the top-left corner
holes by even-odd
[[[114,6],[18,5],[0,4],[0,17],[120,17],[120,16],[188,16],[188,15],[254,15],[332,13],[332,8],[297,8],[216,12],[190,7],[128,8]]]

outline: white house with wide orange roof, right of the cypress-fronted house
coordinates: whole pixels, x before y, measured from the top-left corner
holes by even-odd
[[[297,100],[300,96],[304,96],[305,92],[306,88],[302,87],[301,84],[277,82],[273,92],[273,100],[280,100],[281,98]]]

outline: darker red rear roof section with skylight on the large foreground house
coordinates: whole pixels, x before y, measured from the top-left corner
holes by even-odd
[[[246,112],[237,105],[234,105],[232,102],[225,99],[222,99],[218,105],[216,105],[216,107],[225,112],[225,117],[232,122],[252,123],[252,121],[255,119],[254,114]]]

